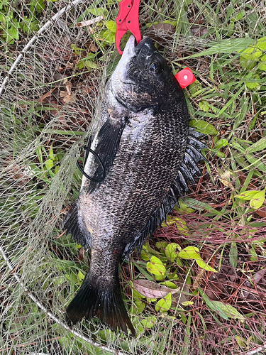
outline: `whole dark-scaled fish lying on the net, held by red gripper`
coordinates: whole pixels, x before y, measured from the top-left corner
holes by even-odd
[[[201,174],[199,133],[189,129],[181,87],[150,38],[129,38],[106,84],[79,198],[65,229],[91,253],[89,271],[67,307],[76,323],[98,317],[135,336],[121,297],[118,265],[140,250]],[[99,163],[102,163],[102,165]]]

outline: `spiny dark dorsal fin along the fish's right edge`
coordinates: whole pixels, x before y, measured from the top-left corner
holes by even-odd
[[[200,136],[202,136],[201,133],[189,129],[187,148],[177,173],[177,177],[172,182],[170,190],[165,196],[162,204],[155,210],[155,212],[153,212],[143,230],[140,231],[140,234],[138,234],[133,243],[127,244],[123,252],[123,258],[128,258],[134,249],[137,249],[138,252],[140,252],[148,236],[153,234],[155,229],[157,229],[157,226],[162,224],[162,221],[166,219],[167,214],[172,212],[172,209],[176,204],[179,207],[179,197],[184,196],[184,193],[188,190],[187,185],[189,182],[194,182],[193,176],[201,175],[201,170],[199,170],[197,163],[199,163],[200,160],[206,160],[200,151],[203,148],[208,148],[208,146],[198,140]]]

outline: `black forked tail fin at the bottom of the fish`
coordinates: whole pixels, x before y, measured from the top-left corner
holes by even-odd
[[[103,288],[92,281],[87,273],[81,288],[67,307],[67,322],[76,324],[84,317],[89,320],[95,316],[113,331],[121,329],[128,334],[128,327],[135,337],[135,329],[121,297],[118,275],[116,279],[111,288]]]

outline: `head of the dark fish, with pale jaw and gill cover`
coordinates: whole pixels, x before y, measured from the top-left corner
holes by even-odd
[[[178,89],[182,90],[152,40],[146,37],[135,46],[131,35],[111,76],[111,90],[117,101],[139,112],[162,105],[165,97]]]

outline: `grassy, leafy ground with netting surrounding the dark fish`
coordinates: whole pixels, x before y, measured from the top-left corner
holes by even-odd
[[[88,261],[60,226],[79,194],[76,161],[119,60],[111,22],[117,13],[112,0],[0,0],[0,353],[262,354],[266,209],[234,196],[242,187],[265,187],[265,146],[246,153],[265,137],[265,71],[252,77],[238,53],[266,35],[263,1],[140,4],[141,31],[174,72],[194,70],[198,82],[187,91],[192,119],[215,126],[228,145],[217,148],[213,126],[198,126],[213,148],[203,176],[143,253],[121,266],[136,339],[97,320],[65,324]],[[248,80],[259,83],[257,92]],[[199,250],[196,257],[177,258],[187,246]],[[167,277],[149,273],[153,256]],[[204,270],[199,258],[218,272]],[[165,298],[155,287],[164,280],[175,285],[166,284]],[[154,297],[144,297],[147,290]]]

